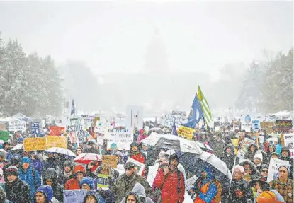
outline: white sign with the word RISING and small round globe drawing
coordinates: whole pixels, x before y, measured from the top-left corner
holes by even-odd
[[[107,150],[130,150],[134,141],[132,129],[108,129],[106,131]]]

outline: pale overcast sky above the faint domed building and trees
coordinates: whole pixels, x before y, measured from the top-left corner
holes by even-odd
[[[292,1],[238,2],[0,2],[4,40],[18,39],[28,54],[86,62],[95,74],[137,72],[154,28],[166,45],[171,71],[213,76],[261,50],[293,47]]]

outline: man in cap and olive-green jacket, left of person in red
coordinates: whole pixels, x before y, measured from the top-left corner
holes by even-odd
[[[137,175],[135,164],[132,162],[125,163],[125,173],[120,175],[114,184],[111,184],[111,192],[116,195],[116,203],[120,203],[125,197],[127,192],[132,191],[132,188],[140,183],[147,193],[147,196],[151,195],[151,187],[147,180],[141,175]]]

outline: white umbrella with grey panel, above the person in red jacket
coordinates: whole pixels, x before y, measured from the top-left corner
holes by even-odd
[[[196,144],[196,141],[183,139],[172,134],[157,134],[152,132],[149,137],[142,139],[142,143],[149,144],[159,148],[174,149],[174,151],[191,152],[200,154],[202,149]]]

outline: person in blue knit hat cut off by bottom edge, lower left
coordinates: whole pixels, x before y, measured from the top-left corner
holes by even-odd
[[[32,203],[59,203],[59,201],[53,197],[52,187],[42,185],[36,190]]]

